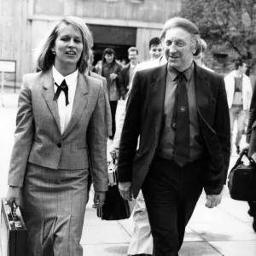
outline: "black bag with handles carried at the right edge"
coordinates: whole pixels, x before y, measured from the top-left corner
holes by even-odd
[[[249,160],[249,165],[244,165],[243,156]],[[238,201],[256,201],[256,164],[247,152],[240,155],[236,165],[231,169],[228,177],[228,187],[232,199]]]

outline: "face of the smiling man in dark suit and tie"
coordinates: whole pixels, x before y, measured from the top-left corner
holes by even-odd
[[[181,27],[170,28],[164,39],[164,49],[169,67],[183,72],[191,65],[195,45],[191,34]]]

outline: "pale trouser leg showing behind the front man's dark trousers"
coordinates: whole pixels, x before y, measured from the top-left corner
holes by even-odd
[[[131,236],[128,255],[153,254],[153,238],[148,222],[148,212],[142,191],[136,199],[133,210],[134,230]]]

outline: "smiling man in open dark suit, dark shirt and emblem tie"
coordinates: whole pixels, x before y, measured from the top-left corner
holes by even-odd
[[[131,87],[119,146],[119,191],[130,200],[143,190],[154,255],[177,256],[202,189],[207,207],[221,201],[230,116],[223,77],[193,61],[201,47],[198,28],[176,17],[166,21],[161,38],[168,63],[138,71]]]

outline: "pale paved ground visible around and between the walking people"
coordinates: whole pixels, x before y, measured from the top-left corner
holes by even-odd
[[[9,159],[14,143],[15,114],[18,91],[5,89],[4,107],[0,99],[0,195],[7,189]],[[119,102],[117,118],[124,102]],[[236,127],[236,124],[235,124]],[[241,141],[245,144],[245,136]],[[108,142],[110,147],[110,143]],[[237,154],[231,156],[230,166],[234,166]],[[84,255],[88,256],[125,256],[131,233],[132,218],[121,221],[103,221],[96,217],[92,206],[93,191],[84,217],[84,230],[81,244]],[[201,195],[193,217],[186,229],[180,256],[255,256],[256,234],[252,228],[253,218],[247,214],[247,202],[230,199],[228,188],[224,189],[222,203],[214,208],[205,207],[204,193]]]

